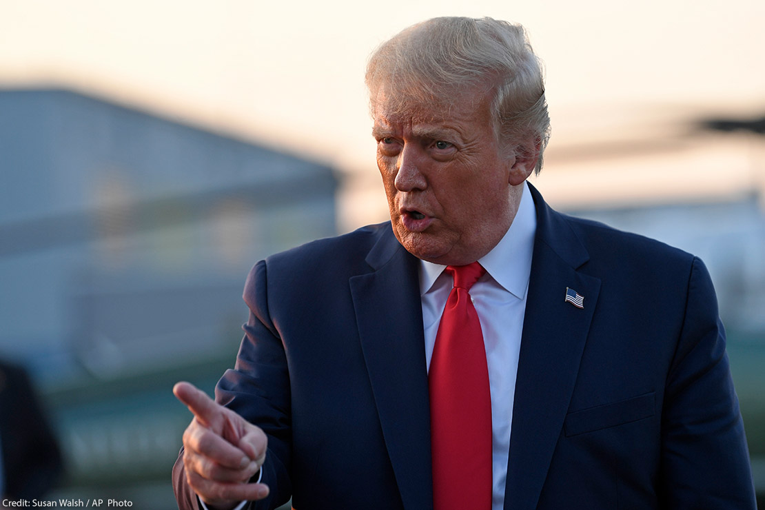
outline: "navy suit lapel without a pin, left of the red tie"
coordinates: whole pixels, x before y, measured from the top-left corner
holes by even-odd
[[[417,259],[392,232],[350,278],[369,380],[404,508],[432,508],[430,411]]]

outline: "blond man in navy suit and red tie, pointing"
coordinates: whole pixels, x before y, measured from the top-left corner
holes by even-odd
[[[179,506],[754,508],[702,262],[526,184],[549,120],[522,28],[426,21],[366,81],[391,223],[253,268],[217,403],[174,388]]]

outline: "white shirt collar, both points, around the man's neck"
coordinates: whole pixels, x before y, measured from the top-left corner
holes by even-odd
[[[505,235],[494,248],[478,261],[487,273],[513,296],[523,299],[529,288],[531,261],[536,233],[536,210],[529,185],[523,186],[518,212]],[[420,294],[431,290],[446,268],[420,260]]]

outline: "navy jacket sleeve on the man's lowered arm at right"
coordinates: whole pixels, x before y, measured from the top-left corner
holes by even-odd
[[[667,375],[661,462],[662,508],[756,508],[725,331],[711,279],[698,258]]]

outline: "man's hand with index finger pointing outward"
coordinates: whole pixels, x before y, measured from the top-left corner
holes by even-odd
[[[178,382],[173,393],[194,413],[184,432],[184,468],[200,499],[233,508],[269,495],[269,486],[248,483],[265,462],[265,433],[188,382]]]

